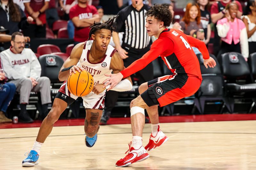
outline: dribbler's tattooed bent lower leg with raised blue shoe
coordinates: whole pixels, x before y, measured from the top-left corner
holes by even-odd
[[[100,129],[100,118],[102,109],[86,109],[86,117],[84,119],[85,144],[92,147],[97,141],[97,132]]]

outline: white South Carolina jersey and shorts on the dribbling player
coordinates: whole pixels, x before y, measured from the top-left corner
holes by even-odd
[[[83,53],[77,65],[79,65],[80,67],[88,71],[93,77],[94,85],[97,85],[97,84],[101,84],[104,80],[108,78],[104,74],[111,74],[112,69],[110,69],[109,67],[110,67],[111,58],[115,54],[116,49],[111,45],[108,45],[105,57],[98,63],[91,63],[88,60],[88,58],[89,58],[90,50],[92,47],[92,43],[93,43],[93,40],[85,41]],[[60,87],[59,92],[62,92],[62,93],[65,92],[67,96],[75,100],[78,98],[77,96],[71,94],[68,91],[66,81]],[[104,108],[105,93],[106,93],[106,89],[100,94],[95,94],[94,92],[90,92],[86,96],[82,97],[84,100],[83,102],[84,107],[93,108],[93,109]]]

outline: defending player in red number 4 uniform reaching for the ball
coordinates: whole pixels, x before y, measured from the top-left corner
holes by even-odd
[[[172,14],[168,7],[155,4],[146,13],[146,29],[149,36],[158,38],[153,42],[150,50],[129,67],[117,74],[110,74],[110,78],[103,83],[110,85],[109,89],[129,75],[143,69],[159,55],[167,67],[174,73],[156,78],[140,85],[140,96],[131,102],[132,146],[129,153],[116,162],[116,166],[128,166],[149,157],[146,150],[164,144],[168,137],[160,130],[157,105],[163,107],[184,97],[193,95],[200,87],[202,76],[199,61],[191,46],[201,51],[206,68],[214,67],[216,62],[209,56],[203,41],[185,35],[179,30],[166,29],[172,21]],[[191,45],[191,46],[190,46]],[[142,130],[145,124],[144,109],[147,109],[151,120],[152,133],[149,143],[142,146]],[[127,152],[128,152],[127,151]]]

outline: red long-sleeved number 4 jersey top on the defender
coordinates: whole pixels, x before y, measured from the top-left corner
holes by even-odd
[[[210,56],[203,41],[179,30],[165,29],[145,55],[120,73],[126,78],[146,67],[160,55],[167,67],[174,73],[172,77],[178,83],[182,84],[183,79],[189,76],[202,80],[199,61],[190,45],[198,48],[204,59],[209,59]]]

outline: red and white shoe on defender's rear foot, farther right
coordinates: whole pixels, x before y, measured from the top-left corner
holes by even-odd
[[[164,144],[165,142],[168,141],[168,137],[166,135],[164,135],[164,133],[159,130],[156,134],[155,137],[152,136],[152,133],[149,137],[149,142],[148,144],[145,146],[146,151],[151,151],[154,148],[156,148],[157,146],[160,146],[162,144]]]

